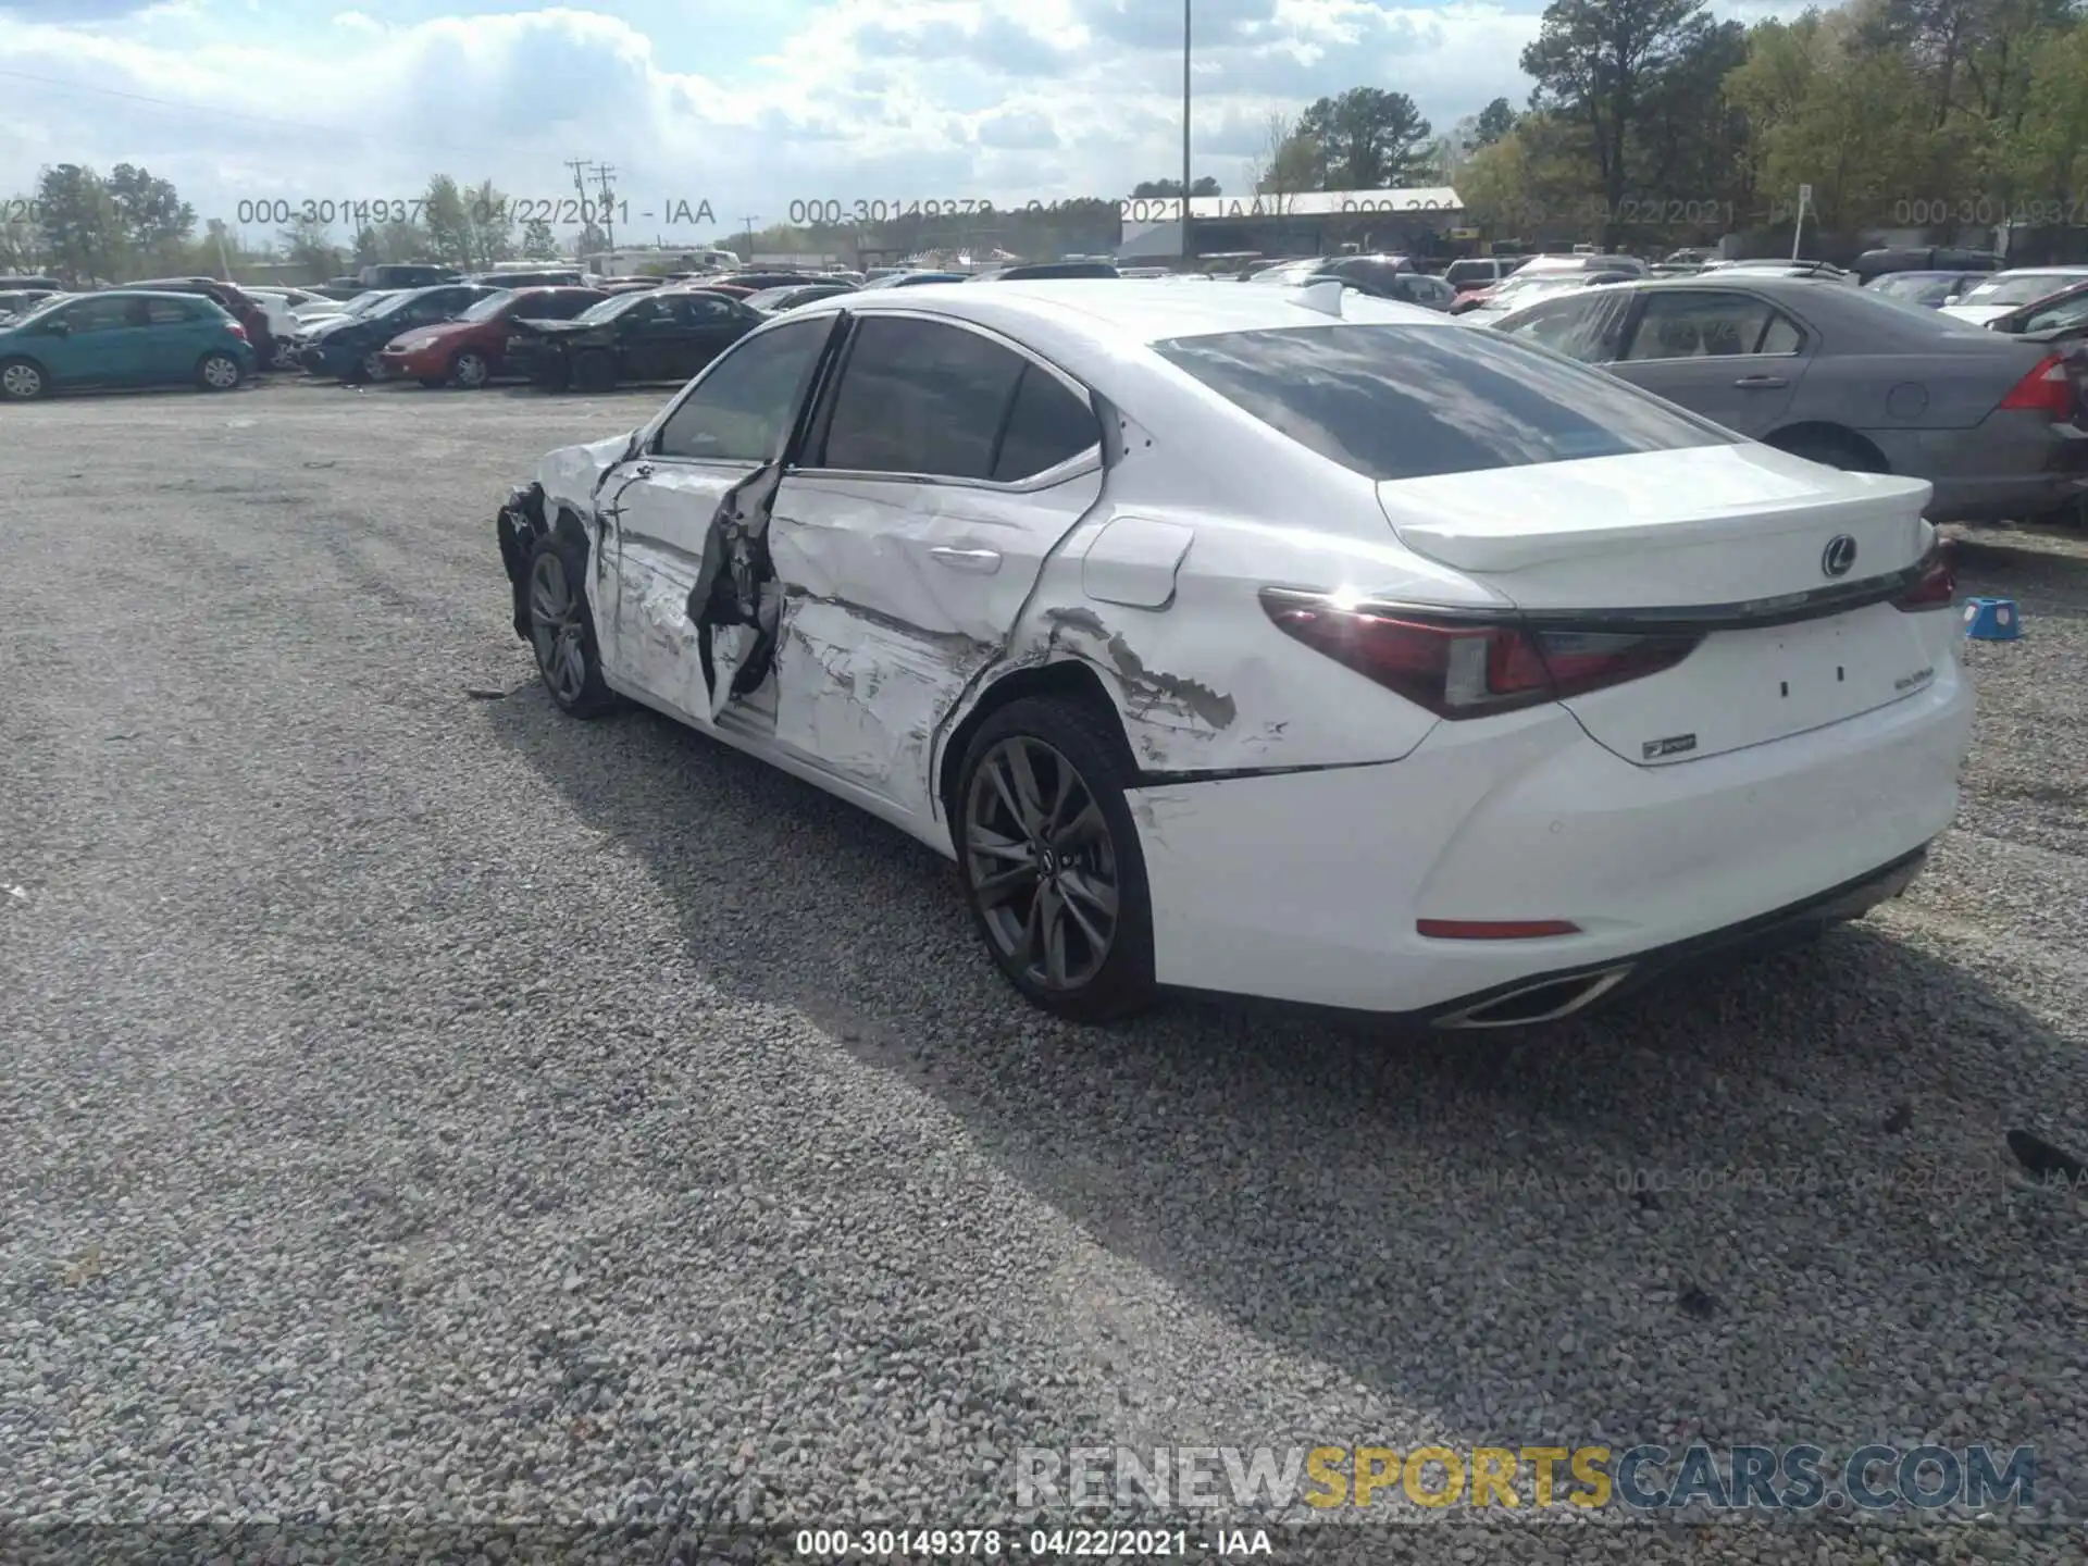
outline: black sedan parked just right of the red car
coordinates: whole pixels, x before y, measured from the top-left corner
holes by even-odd
[[[512,322],[507,363],[545,390],[687,380],[766,315],[741,299],[662,288],[606,299],[570,322]]]

